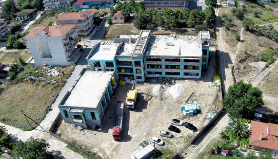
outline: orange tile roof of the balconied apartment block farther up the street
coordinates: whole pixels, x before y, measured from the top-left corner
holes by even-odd
[[[83,9],[79,12],[63,12],[60,13],[56,18],[53,18],[52,21],[84,19],[90,14],[95,14],[97,11],[97,9]]]

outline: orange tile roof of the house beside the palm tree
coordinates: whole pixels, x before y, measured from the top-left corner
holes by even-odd
[[[278,124],[251,121],[249,144],[278,150]]]

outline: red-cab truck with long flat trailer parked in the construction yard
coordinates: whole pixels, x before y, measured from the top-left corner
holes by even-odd
[[[115,111],[115,122],[113,127],[113,138],[115,141],[121,140],[123,106],[124,106],[123,101],[117,101],[117,106]]]

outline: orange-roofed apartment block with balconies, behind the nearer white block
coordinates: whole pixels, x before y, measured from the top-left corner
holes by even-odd
[[[94,34],[94,17],[97,9],[83,9],[79,12],[63,12],[52,19],[58,25],[76,25],[75,29],[79,37],[89,37]]]

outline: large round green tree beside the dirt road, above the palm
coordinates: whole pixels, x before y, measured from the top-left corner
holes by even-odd
[[[230,117],[245,117],[255,113],[255,109],[263,105],[262,91],[240,80],[229,87],[222,104]]]

